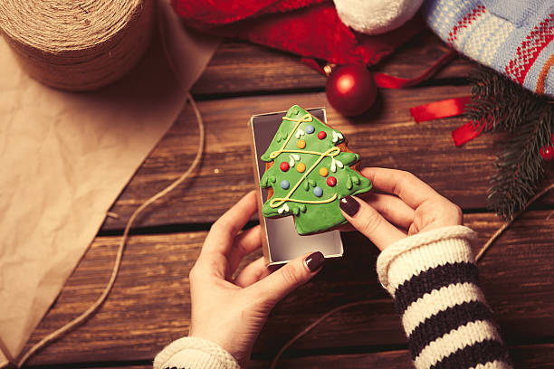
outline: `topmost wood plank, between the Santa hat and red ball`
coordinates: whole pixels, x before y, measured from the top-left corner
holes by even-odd
[[[397,76],[416,77],[444,52],[446,45],[425,31],[372,67]],[[462,57],[435,75],[435,80],[464,78],[476,64]],[[327,78],[301,62],[301,58],[252,43],[226,40],[192,89],[195,95],[240,94],[254,91],[323,89]]]

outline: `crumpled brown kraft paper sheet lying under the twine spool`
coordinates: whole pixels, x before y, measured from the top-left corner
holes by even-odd
[[[162,2],[160,2],[162,3]],[[186,31],[166,2],[167,49],[188,90],[218,40]],[[52,90],[0,37],[0,366],[20,354],[104,216],[183,108],[159,35],[110,87]]]

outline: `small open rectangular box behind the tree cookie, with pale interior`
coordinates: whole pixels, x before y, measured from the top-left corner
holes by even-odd
[[[324,108],[306,109],[322,122],[327,122]],[[265,162],[260,159],[270,146],[272,138],[282,123],[287,111],[254,115],[250,119],[253,137],[254,179],[258,193],[259,208],[267,200],[268,191],[260,188],[260,178],[265,172]],[[259,212],[263,230],[263,256],[268,265],[284,264],[308,252],[321,251],[326,258],[341,257],[344,249],[339,231],[324,232],[306,236],[299,235],[294,228],[292,216],[283,218],[265,218]]]

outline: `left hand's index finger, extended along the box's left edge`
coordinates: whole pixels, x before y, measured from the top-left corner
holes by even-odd
[[[223,254],[227,257],[233,246],[234,237],[243,229],[257,208],[257,198],[253,191],[235,203],[212,225],[205,238],[199,260],[210,254]]]

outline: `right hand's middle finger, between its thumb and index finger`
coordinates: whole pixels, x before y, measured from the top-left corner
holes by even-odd
[[[391,194],[371,194],[365,199],[369,206],[383,215],[388,222],[407,230],[414,222],[414,209]]]

